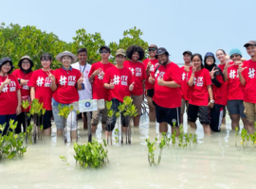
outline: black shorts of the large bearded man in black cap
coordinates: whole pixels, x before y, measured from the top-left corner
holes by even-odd
[[[166,122],[171,126],[178,127],[180,124],[180,107],[168,109],[164,107],[158,106],[154,101],[153,104],[155,105],[155,114],[156,114],[156,121],[157,123]]]

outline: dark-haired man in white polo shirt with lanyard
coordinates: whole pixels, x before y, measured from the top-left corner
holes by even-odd
[[[78,50],[78,62],[71,64],[72,68],[80,70],[83,75],[83,84],[84,89],[79,91],[80,100],[89,100],[92,99],[92,85],[89,81],[88,74],[91,70],[91,65],[86,63],[87,60],[87,49],[80,48]],[[86,114],[83,114],[83,129],[87,129],[87,117]]]

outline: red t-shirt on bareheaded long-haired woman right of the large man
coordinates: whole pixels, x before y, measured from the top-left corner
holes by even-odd
[[[189,79],[192,76],[192,71],[189,73]],[[207,86],[211,85],[210,73],[206,68],[203,68],[194,73],[193,85],[191,87],[191,96],[189,104],[195,106],[208,106],[209,93]]]

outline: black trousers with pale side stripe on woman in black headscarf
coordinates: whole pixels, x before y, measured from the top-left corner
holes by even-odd
[[[210,129],[212,131],[219,132],[221,130],[224,108],[224,105],[214,104],[210,109]]]

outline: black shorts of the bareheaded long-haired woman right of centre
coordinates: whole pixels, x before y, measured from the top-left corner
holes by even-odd
[[[189,104],[188,120],[190,122],[195,122],[197,116],[199,117],[199,121],[201,124],[206,124],[206,125],[210,124],[208,106],[195,106],[195,105]]]

